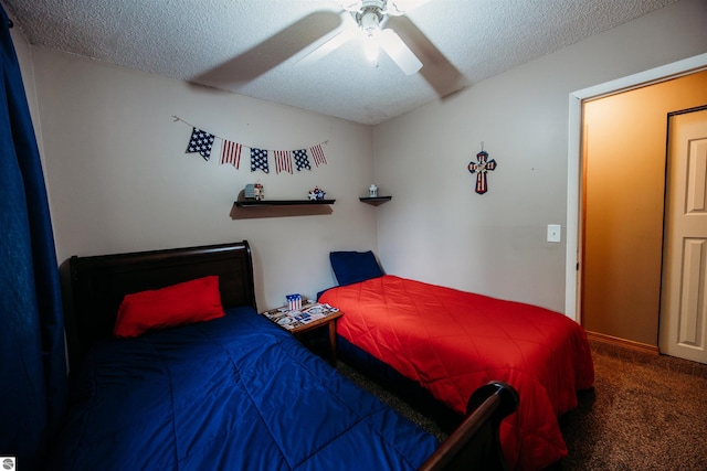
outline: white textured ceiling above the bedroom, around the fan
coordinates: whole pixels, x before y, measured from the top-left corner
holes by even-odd
[[[31,44],[379,124],[676,0],[430,0],[395,30],[404,75],[350,41],[299,62],[341,24],[335,0],[2,0]]]

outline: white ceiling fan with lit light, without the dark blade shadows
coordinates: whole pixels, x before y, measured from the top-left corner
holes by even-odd
[[[399,17],[414,10],[429,0],[339,0],[344,9],[342,23],[318,47],[304,56],[300,62],[312,63],[338,49],[357,34],[365,35],[366,54],[376,60],[379,50],[407,75],[422,68],[422,62],[391,28],[386,28],[390,17]],[[352,24],[354,20],[356,24]],[[358,28],[356,28],[358,26]]]

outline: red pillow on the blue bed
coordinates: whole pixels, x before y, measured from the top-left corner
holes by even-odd
[[[126,295],[118,308],[113,334],[118,338],[138,336],[150,330],[224,315],[219,277],[210,276],[162,289]]]

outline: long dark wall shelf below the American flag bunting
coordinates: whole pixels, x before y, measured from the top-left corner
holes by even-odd
[[[312,216],[331,214],[336,200],[239,200],[231,208],[232,220]]]

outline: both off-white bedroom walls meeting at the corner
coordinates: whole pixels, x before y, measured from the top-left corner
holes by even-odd
[[[567,225],[568,96],[707,51],[706,18],[706,2],[683,0],[372,132],[32,47],[57,257],[246,238],[258,304],[271,308],[334,283],[329,250],[373,248],[388,272],[561,311],[566,240],[545,236],[547,224]],[[190,128],[172,115],[255,147],[328,140],[329,164],[264,175],[251,174],[247,158],[240,171],[215,156],[205,163],[184,153]],[[482,141],[498,168],[477,195],[466,165]],[[238,192],[256,179],[272,199],[320,185],[337,200],[334,213],[232,221]],[[373,181],[393,195],[377,208],[358,202]]]

